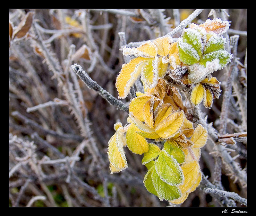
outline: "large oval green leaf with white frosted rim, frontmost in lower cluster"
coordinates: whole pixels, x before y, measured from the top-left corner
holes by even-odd
[[[161,151],[155,161],[155,170],[162,181],[172,186],[182,183],[184,175],[179,163],[172,155]]]

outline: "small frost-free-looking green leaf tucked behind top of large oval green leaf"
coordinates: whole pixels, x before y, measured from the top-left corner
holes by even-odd
[[[169,155],[172,155],[179,164],[185,161],[185,154],[178,147],[178,143],[175,140],[169,139],[167,142],[165,142],[163,150],[165,150]]]

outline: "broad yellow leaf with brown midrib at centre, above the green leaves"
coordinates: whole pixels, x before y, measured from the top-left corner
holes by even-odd
[[[169,139],[175,136],[181,129],[184,122],[184,112],[174,112],[158,125],[155,125],[155,132],[163,139]]]

